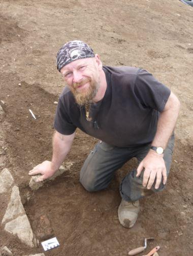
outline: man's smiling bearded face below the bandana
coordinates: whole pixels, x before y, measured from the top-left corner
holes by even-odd
[[[60,70],[78,105],[89,104],[100,87],[100,75],[95,58],[79,59]]]

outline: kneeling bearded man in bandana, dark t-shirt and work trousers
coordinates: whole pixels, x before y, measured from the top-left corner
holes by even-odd
[[[133,157],[139,161],[120,184],[120,223],[132,227],[139,199],[162,191],[169,174],[179,100],[146,70],[103,66],[82,41],[71,41],[57,53],[57,69],[66,82],[59,97],[52,160],[29,172],[41,182],[67,156],[76,128],[101,140],[87,157],[80,182],[90,192],[105,189],[113,175]]]

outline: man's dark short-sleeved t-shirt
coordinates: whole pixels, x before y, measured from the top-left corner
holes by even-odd
[[[89,110],[76,104],[68,86],[61,93],[54,128],[70,135],[76,127],[110,145],[118,147],[151,143],[159,112],[164,110],[170,89],[146,70],[135,67],[104,66],[107,80],[105,96]]]

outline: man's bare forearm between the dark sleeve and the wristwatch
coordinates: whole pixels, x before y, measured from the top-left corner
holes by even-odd
[[[166,104],[164,111],[159,116],[157,131],[152,141],[152,146],[160,146],[166,148],[168,140],[176,125],[179,109],[179,100],[174,94],[172,94]]]

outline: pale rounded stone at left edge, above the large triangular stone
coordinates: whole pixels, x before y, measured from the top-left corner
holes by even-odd
[[[6,193],[12,186],[14,180],[7,168],[4,168],[0,173],[0,194]]]

